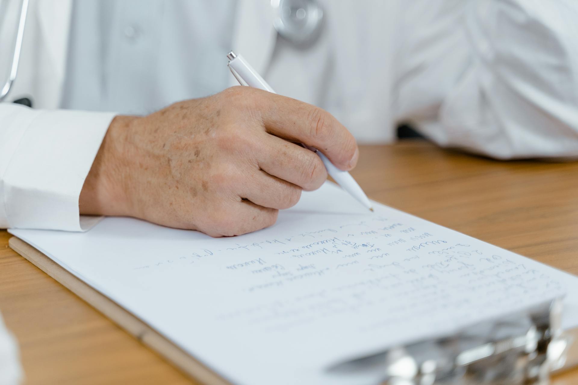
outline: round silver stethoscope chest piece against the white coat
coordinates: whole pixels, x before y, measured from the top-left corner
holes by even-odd
[[[280,36],[297,46],[317,39],[323,24],[323,9],[316,0],[271,0],[273,26]]]

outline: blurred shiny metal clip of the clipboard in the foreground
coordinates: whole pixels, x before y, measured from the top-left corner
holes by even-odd
[[[572,342],[560,299],[457,334],[386,353],[382,385],[518,385],[550,382]]]

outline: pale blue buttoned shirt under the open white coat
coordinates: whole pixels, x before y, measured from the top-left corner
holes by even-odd
[[[143,115],[222,91],[235,4],[75,1],[61,107]]]

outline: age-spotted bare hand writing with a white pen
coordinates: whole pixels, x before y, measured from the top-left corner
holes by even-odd
[[[233,87],[110,124],[80,194],[81,214],[126,215],[213,237],[273,225],[301,190],[357,163],[355,139],[331,114]]]

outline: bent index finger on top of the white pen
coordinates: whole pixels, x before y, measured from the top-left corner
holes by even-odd
[[[355,139],[333,115],[299,100],[261,90],[254,92],[269,133],[317,148],[339,169],[355,167],[359,158]]]

